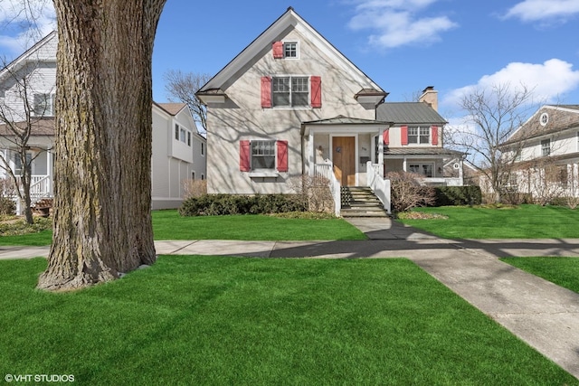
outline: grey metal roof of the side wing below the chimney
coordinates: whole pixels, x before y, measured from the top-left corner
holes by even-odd
[[[376,119],[403,125],[445,125],[448,122],[424,102],[385,102],[376,108]]]

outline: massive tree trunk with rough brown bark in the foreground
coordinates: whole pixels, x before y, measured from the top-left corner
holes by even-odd
[[[151,61],[165,2],[54,0],[54,231],[39,288],[88,287],[156,259]]]

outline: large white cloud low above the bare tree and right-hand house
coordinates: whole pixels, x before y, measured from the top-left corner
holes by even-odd
[[[456,105],[474,89],[507,84],[513,89],[524,85],[533,90],[535,99],[553,103],[560,101],[565,93],[579,88],[579,70],[574,71],[573,64],[560,59],[551,59],[542,64],[513,62],[494,74],[483,76],[477,84],[452,90],[442,103]]]

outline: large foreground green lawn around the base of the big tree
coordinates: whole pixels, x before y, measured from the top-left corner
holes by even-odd
[[[0,373],[78,384],[579,381],[406,259],[161,257],[72,293],[0,261]]]

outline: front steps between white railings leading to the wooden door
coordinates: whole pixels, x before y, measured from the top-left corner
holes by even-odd
[[[342,186],[342,217],[388,217],[384,205],[372,193],[362,186]]]

